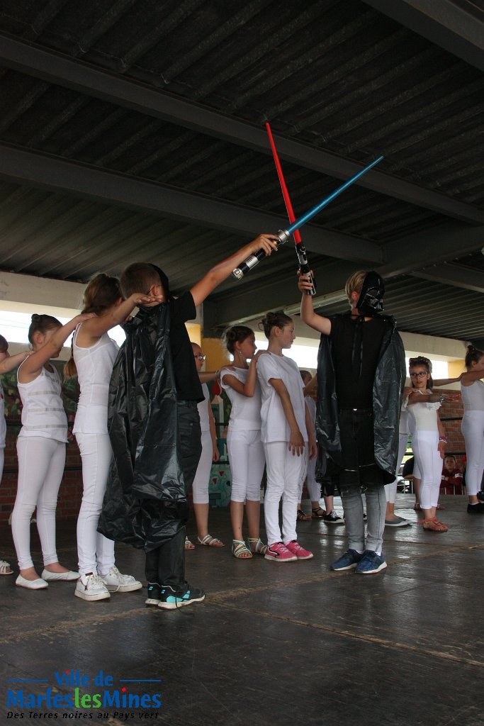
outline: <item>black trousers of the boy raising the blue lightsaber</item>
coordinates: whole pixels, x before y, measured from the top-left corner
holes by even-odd
[[[178,402],[179,452],[184,474],[186,495],[192,489],[198,462],[202,454],[200,416],[195,401]],[[177,594],[186,590],[185,582],[185,524],[188,519],[186,502],[172,504],[165,508],[165,516],[175,518],[179,529],[175,536],[147,552],[144,574],[148,582],[170,585]]]

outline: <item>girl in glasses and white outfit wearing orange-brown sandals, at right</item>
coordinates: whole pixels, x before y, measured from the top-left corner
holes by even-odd
[[[438,409],[444,398],[454,400],[456,396],[432,393],[432,363],[424,356],[409,360],[409,375],[413,392],[406,399],[406,405],[413,423],[411,446],[421,475],[420,505],[424,513],[419,523],[424,529],[446,532],[448,526],[436,516],[447,442]]]

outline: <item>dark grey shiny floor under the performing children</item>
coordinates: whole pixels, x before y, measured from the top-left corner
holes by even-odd
[[[313,560],[235,560],[229,513],[211,510],[210,531],[227,546],[187,552],[189,582],[207,597],[179,611],[146,608],[146,590],[84,603],[73,584],[30,592],[15,587],[15,576],[1,577],[1,722],[20,713],[23,723],[45,722],[50,713],[57,723],[483,725],[484,516],[468,515],[466,499],[442,498],[446,534],[417,524],[387,529],[388,567],[374,576],[331,573],[329,563],[346,548],[345,528],[319,521],[298,523]],[[415,523],[412,504],[400,495],[397,509]],[[0,556],[15,563],[9,528],[0,536]],[[75,523],[60,524],[58,543],[62,563],[74,568]],[[35,527],[33,551],[38,561]],[[117,560],[142,579],[142,552],[120,545]],[[112,685],[94,684],[100,670]],[[64,704],[75,685],[58,685],[55,674],[66,671],[89,677],[78,692],[89,697],[118,690],[123,679],[161,680],[128,683],[125,696],[160,693],[162,706],[18,701],[20,690],[34,698],[50,687]],[[17,704],[7,708],[9,690]]]

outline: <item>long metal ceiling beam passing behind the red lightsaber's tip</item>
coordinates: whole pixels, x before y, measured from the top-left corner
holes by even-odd
[[[215,136],[266,155],[271,154],[266,132],[254,124],[223,115],[200,104],[158,91],[146,83],[128,80],[118,74],[75,60],[65,54],[20,41],[7,34],[0,34],[0,39],[0,62],[7,68],[28,73],[44,81],[65,86],[163,121],[176,123],[201,134]],[[281,158],[321,174],[329,174],[337,179],[349,179],[361,168],[352,161],[308,144],[283,136],[275,136],[275,140]],[[374,192],[395,197],[469,224],[484,224],[484,211],[381,171],[372,169],[358,179],[357,183]]]

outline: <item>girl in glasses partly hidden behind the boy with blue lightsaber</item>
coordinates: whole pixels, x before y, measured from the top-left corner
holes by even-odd
[[[192,343],[195,366],[200,373],[205,356],[202,348],[197,343]],[[215,378],[215,373],[212,374]],[[200,428],[202,430],[202,455],[198,462],[197,472],[193,480],[193,509],[195,514],[195,522],[197,523],[197,534],[199,544],[205,544],[207,547],[224,547],[218,537],[212,537],[208,534],[208,505],[210,499],[208,497],[208,483],[210,481],[210,470],[212,462],[218,461],[220,454],[217,448],[217,436],[215,431],[215,420],[213,418],[212,404],[210,402],[210,392],[206,383],[202,383],[202,391],[204,399],[200,401],[198,412],[200,414]],[[185,550],[194,550],[194,544],[186,537]]]

